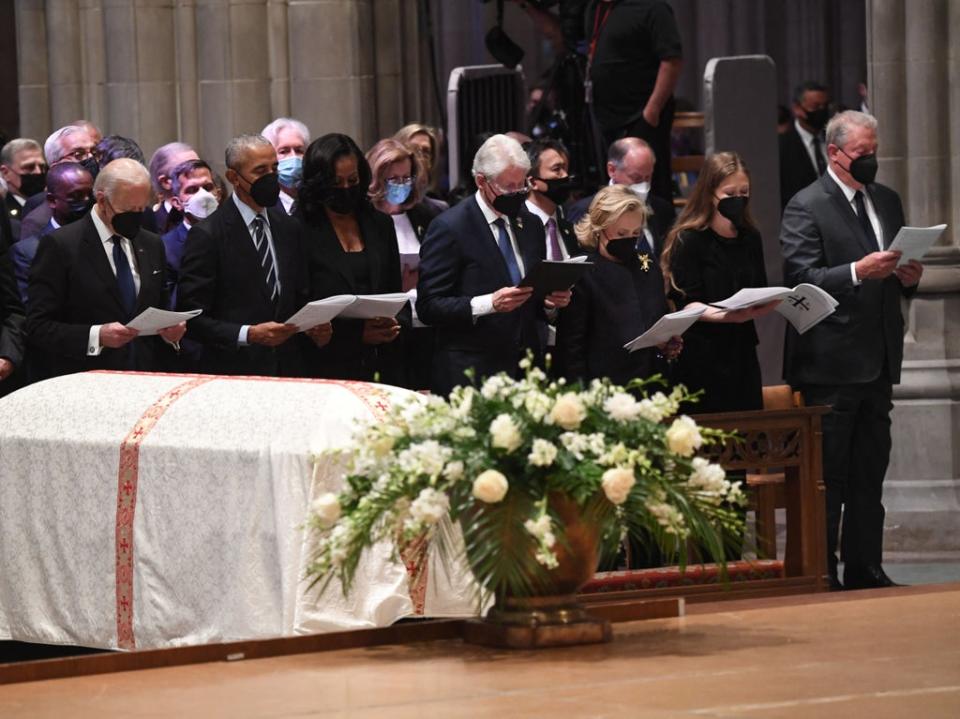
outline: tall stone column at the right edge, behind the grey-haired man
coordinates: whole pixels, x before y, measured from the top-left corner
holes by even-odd
[[[950,225],[904,304],[885,484],[888,558],[960,557],[960,0],[869,0],[880,181],[911,225]],[[951,155],[952,148],[952,155]]]

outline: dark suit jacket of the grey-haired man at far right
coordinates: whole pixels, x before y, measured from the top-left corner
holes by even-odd
[[[888,246],[904,225],[896,192],[867,192]],[[787,205],[780,230],[784,280],[808,282],[839,301],[836,311],[803,335],[788,325],[784,375],[792,385],[844,385],[886,377],[900,381],[903,316],[900,298],[913,294],[895,275],[855,285],[850,263],[877,251],[841,188],[827,174]]]

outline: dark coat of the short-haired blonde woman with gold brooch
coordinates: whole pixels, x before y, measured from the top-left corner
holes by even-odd
[[[646,332],[667,313],[663,275],[656,262],[621,264],[591,252],[593,267],[573,288],[570,304],[560,311],[557,363],[571,381],[609,377],[617,384],[646,378],[665,365],[655,349],[627,352],[630,340]]]

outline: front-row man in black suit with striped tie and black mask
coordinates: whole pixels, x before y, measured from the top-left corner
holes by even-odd
[[[260,135],[242,135],[226,165],[233,197],[191,228],[180,265],[178,308],[203,310],[187,337],[203,346],[204,372],[300,376],[302,338],[284,321],[310,299],[309,276],[300,225],[274,207],[277,153]],[[309,334],[321,344],[329,331]]]

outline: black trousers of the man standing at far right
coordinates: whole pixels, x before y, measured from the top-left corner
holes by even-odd
[[[893,386],[881,376],[865,384],[808,385],[800,391],[807,405],[833,410],[823,418],[830,572],[836,576],[838,544],[847,566],[880,566]]]

